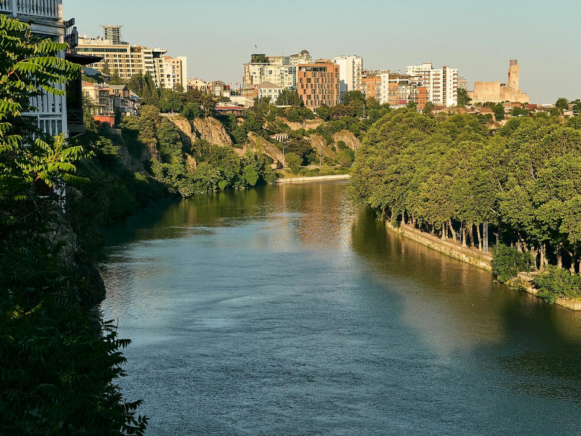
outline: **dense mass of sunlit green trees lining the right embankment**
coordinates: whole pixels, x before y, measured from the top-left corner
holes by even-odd
[[[442,238],[456,225],[474,242],[474,226],[487,221],[505,242],[540,252],[539,266],[566,259],[574,271],[581,249],[579,127],[519,117],[491,136],[472,115],[432,119],[397,109],[368,130],[350,189],[379,212],[413,218]]]

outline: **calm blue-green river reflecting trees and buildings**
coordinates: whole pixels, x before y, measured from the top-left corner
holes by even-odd
[[[581,313],[402,239],[345,181],[195,196],[107,231],[148,434],[581,434]]]

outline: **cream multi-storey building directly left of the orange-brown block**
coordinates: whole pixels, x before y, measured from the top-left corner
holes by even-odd
[[[250,62],[244,64],[242,86],[270,81],[277,86],[291,90],[297,89],[297,66],[311,63],[307,50],[290,56],[266,56],[253,54]]]

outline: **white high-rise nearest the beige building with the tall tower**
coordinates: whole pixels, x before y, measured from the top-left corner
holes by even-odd
[[[413,77],[418,86],[425,86],[428,101],[446,107],[458,104],[458,69],[443,66],[434,69],[432,63],[406,67],[406,75]]]

